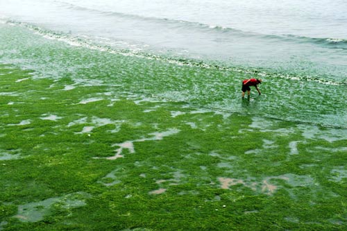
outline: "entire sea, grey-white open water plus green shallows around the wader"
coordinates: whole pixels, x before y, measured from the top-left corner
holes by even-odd
[[[119,94],[347,128],[347,1],[0,0],[0,63]],[[245,78],[261,96],[241,98]]]

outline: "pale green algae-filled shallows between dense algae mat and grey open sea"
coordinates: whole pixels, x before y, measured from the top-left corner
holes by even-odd
[[[346,128],[344,78],[119,50],[27,25],[0,26],[1,62],[33,69],[38,77],[68,77],[71,86],[117,85],[119,95],[127,92],[198,108]],[[253,89],[251,99],[242,101],[241,82],[253,77],[264,79],[262,96]]]

